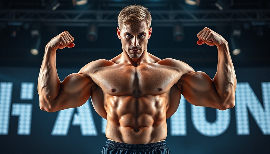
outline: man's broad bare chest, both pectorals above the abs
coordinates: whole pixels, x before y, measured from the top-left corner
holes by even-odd
[[[156,63],[137,67],[117,64],[99,69],[92,79],[107,94],[139,96],[164,94],[179,80],[179,75],[172,68]]]

